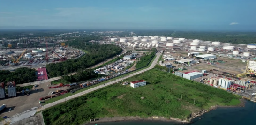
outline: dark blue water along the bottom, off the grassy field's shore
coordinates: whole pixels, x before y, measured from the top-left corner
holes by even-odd
[[[205,116],[205,117],[204,117]],[[199,117],[198,117],[199,118]],[[218,108],[205,113],[201,120],[193,119],[189,125],[256,125],[256,103],[246,101],[245,107]],[[186,125],[176,122],[123,121],[105,122],[98,125]],[[89,124],[95,125],[95,124]]]

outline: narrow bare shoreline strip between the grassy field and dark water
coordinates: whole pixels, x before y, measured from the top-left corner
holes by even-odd
[[[154,122],[177,122],[180,124],[191,124],[192,120],[196,117],[202,116],[204,113],[210,112],[211,110],[216,110],[217,108],[234,108],[234,107],[244,107],[245,106],[245,102],[246,100],[241,98],[239,99],[241,101],[240,104],[238,104],[237,106],[219,106],[219,105],[215,105],[215,106],[211,106],[211,108],[209,110],[201,110],[197,113],[193,112],[190,114],[190,118],[186,119],[186,120],[181,120],[179,118],[165,118],[165,117],[158,117],[158,116],[152,116],[152,117],[148,117],[148,118],[141,118],[138,116],[126,116],[126,117],[103,117],[103,118],[97,118],[96,121],[91,121],[91,122],[87,122],[83,125],[88,125],[88,124],[95,124],[95,123],[104,123],[104,122],[120,122],[120,121],[154,121]]]

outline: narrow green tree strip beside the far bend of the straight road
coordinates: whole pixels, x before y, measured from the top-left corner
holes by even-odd
[[[147,66],[147,64],[149,63],[150,59],[152,59],[152,57],[154,57],[156,54],[156,49],[153,48],[152,52],[146,56],[143,56],[140,58],[140,60],[137,62],[136,64],[136,68],[141,68],[143,66]]]

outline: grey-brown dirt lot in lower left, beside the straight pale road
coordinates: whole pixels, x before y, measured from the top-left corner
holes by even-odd
[[[49,89],[49,84],[50,82],[39,84],[39,86],[36,87],[37,91],[35,90],[35,88],[33,88],[34,90],[30,90],[29,96],[17,93],[17,97],[0,100],[0,104],[7,105],[7,108],[1,111],[0,117],[11,117],[17,113],[22,113],[23,111],[30,110],[31,108],[40,107],[40,97],[51,95],[52,91],[60,90],[60,88]],[[68,87],[61,89],[68,89]],[[12,108],[12,110],[9,111],[9,108]]]

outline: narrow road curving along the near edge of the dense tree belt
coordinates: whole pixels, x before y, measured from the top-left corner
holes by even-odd
[[[123,48],[122,48],[122,49],[123,49]],[[123,49],[123,51],[122,51],[121,54],[124,54],[124,53],[126,53],[126,50],[125,50],[125,49]],[[104,62],[99,63],[99,64],[97,64],[97,65],[91,66],[90,68],[95,68],[95,67],[100,66],[100,65],[102,65],[102,64],[104,64],[104,63],[107,63],[107,62],[109,62],[109,61],[111,61],[111,60],[113,60],[113,59],[115,59],[115,58],[116,58],[116,57],[107,59],[107,61],[104,61]],[[75,73],[76,73],[76,72],[75,72]],[[74,75],[75,73],[72,73],[71,75]],[[34,81],[34,82],[30,82],[30,83],[23,83],[23,84],[19,84],[18,86],[22,86],[22,87],[23,87],[23,86],[29,86],[29,85],[36,85],[36,84],[41,84],[41,83],[45,83],[45,82],[51,82],[51,81],[55,81],[55,80],[59,80],[59,79],[61,79],[61,76],[53,77],[53,78],[51,78],[51,79],[43,80],[43,81]]]

